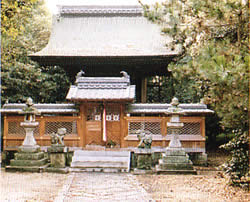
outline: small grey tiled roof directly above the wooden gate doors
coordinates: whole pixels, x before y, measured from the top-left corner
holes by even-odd
[[[135,98],[135,86],[129,76],[123,77],[78,77],[66,97],[72,101],[126,100]]]

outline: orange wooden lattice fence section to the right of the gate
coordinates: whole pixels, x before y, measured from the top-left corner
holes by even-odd
[[[136,132],[143,130],[152,134],[153,146],[167,146],[171,139],[167,128],[169,117],[126,117],[127,135],[124,140],[128,146],[135,146],[138,141]],[[180,130],[180,140],[188,151],[205,151],[205,119],[203,117],[181,117],[184,123]]]

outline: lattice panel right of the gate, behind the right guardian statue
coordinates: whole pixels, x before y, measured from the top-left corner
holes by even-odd
[[[161,123],[160,122],[129,122],[128,134],[135,135],[136,131],[148,131],[152,135],[161,135]]]

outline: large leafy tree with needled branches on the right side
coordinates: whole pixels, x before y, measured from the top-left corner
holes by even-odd
[[[225,168],[236,183],[235,173],[248,175],[248,2],[167,0],[144,8],[172,36],[169,48],[180,52],[168,67],[174,80],[194,88],[215,110],[220,130],[234,134],[224,148],[233,152]]]

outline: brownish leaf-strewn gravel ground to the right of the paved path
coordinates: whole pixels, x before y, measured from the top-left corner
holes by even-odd
[[[228,186],[227,179],[213,171],[209,175],[141,175],[137,179],[155,201],[250,201],[247,191]]]

